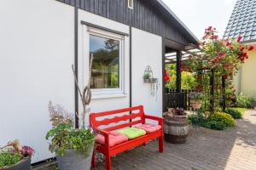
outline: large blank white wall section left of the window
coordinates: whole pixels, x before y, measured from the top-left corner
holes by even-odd
[[[0,2],[0,145],[20,139],[33,161],[52,156],[49,100],[74,110],[73,19],[73,7],[54,0]]]

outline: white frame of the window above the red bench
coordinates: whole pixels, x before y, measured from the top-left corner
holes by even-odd
[[[119,41],[119,88],[91,88],[92,99],[122,97],[125,95],[125,36],[88,26],[86,36],[89,42],[88,50],[86,50],[88,52],[87,59],[89,59],[90,54],[90,35]]]

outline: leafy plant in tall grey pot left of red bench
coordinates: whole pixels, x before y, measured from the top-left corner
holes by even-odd
[[[49,102],[52,129],[46,134],[61,170],[90,170],[95,134],[89,127],[75,128],[73,118],[61,105]]]

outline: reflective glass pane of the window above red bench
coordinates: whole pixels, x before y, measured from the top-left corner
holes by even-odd
[[[119,41],[90,35],[90,88],[119,88]]]

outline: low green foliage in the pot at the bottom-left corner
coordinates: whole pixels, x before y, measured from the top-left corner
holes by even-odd
[[[15,165],[21,159],[20,153],[0,152],[0,168]]]

